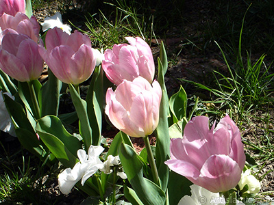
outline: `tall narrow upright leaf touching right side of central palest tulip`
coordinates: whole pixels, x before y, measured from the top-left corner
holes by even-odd
[[[166,92],[164,84],[164,74],[167,70],[167,56],[164,49],[164,44],[161,44],[160,59],[158,59],[158,82],[162,87],[162,100],[160,103],[159,124],[155,130],[157,136],[156,143],[156,165],[160,178],[161,188],[165,192],[169,180],[169,167],[164,164],[164,161],[169,159],[169,96]]]

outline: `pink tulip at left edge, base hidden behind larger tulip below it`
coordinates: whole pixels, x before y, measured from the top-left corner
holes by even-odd
[[[29,19],[27,15],[20,12],[15,16],[3,14],[0,17],[0,27],[3,31],[0,33],[0,42],[6,33],[22,33],[38,42],[40,25],[35,16]]]

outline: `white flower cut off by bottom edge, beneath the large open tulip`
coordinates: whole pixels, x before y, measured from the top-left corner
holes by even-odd
[[[185,195],[179,201],[178,205],[224,205],[225,197],[220,193],[213,193],[196,184],[190,186],[191,196]],[[245,205],[240,201],[236,201],[237,205]]]

